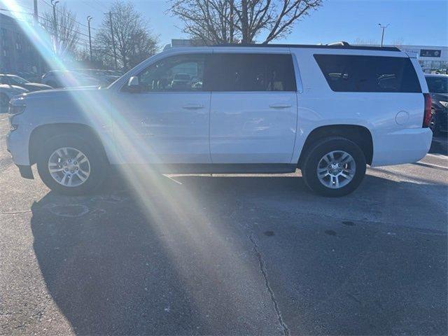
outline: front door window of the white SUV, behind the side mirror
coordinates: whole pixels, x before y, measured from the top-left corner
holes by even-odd
[[[204,91],[205,55],[167,57],[139,74],[144,92]]]

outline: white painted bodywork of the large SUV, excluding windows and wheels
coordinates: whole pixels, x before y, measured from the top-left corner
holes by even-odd
[[[131,76],[153,62],[192,52],[292,53],[297,92],[120,91]],[[173,48],[142,62],[107,90],[55,90],[13,99],[13,104],[26,104],[27,109],[15,116],[19,128],[9,134],[8,148],[16,164],[29,165],[29,139],[36,127],[76,123],[97,132],[112,164],[295,165],[307,137],[317,127],[360,125],[372,134],[374,166],[415,162],[426,155],[432,133],[421,128],[423,94],[333,92],[313,57],[325,53],[407,57],[403,52],[377,50]],[[428,92],[416,59],[411,61],[422,91]],[[184,109],[189,104],[203,107]]]

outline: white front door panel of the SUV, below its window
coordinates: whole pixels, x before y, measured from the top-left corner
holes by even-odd
[[[210,92],[118,95],[123,109],[116,114],[113,133],[123,162],[211,163]],[[124,130],[119,120],[125,120]],[[121,146],[128,139],[136,144],[137,151]]]

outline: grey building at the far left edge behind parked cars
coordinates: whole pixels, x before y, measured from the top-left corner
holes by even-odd
[[[39,59],[18,22],[0,13],[0,73],[36,73]]]

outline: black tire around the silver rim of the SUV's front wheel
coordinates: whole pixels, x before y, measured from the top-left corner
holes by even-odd
[[[90,175],[80,186],[63,186],[53,179],[50,174],[48,160],[50,160],[52,153],[63,147],[76,148],[76,150],[85,154],[90,163]],[[55,136],[45,141],[36,161],[38,174],[41,176],[45,186],[64,195],[86,195],[92,193],[102,184],[107,172],[109,172],[109,164],[101,148],[94,146],[92,141],[82,139],[76,134]]]

